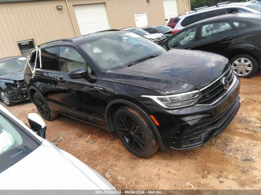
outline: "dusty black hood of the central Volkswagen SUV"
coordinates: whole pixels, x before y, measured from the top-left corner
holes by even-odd
[[[109,73],[111,79],[154,87],[167,94],[200,89],[228,69],[221,55],[170,49],[158,57]]]

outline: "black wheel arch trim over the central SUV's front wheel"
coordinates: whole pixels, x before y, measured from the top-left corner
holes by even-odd
[[[114,113],[116,112],[117,109],[119,109],[121,106],[124,106],[124,105],[131,106],[132,108],[136,109],[138,112],[141,113],[141,115],[145,118],[145,120],[149,123],[151,128],[154,130],[154,132],[157,136],[158,142],[160,144],[161,150],[166,151],[164,148],[160,133],[159,133],[156,125],[152,121],[152,119],[149,117],[149,113],[148,113],[147,109],[145,109],[137,101],[132,100],[130,98],[128,98],[128,100],[127,99],[115,99],[115,100],[109,101],[109,103],[107,104],[106,109],[105,109],[105,120],[106,120],[108,130],[110,132],[115,131],[114,124],[113,124]]]

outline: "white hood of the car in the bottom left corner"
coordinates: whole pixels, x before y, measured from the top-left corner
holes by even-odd
[[[115,189],[93,169],[61,151],[44,140],[0,174],[0,189]]]

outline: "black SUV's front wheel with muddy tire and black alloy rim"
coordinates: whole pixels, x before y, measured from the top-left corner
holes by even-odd
[[[119,108],[114,115],[114,125],[124,146],[135,156],[147,158],[158,151],[154,131],[137,110],[128,106]]]

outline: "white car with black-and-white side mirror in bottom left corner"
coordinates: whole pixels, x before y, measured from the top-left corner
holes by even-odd
[[[45,140],[39,115],[28,114],[28,122],[32,130],[0,105],[0,189],[115,190],[99,173]]]

